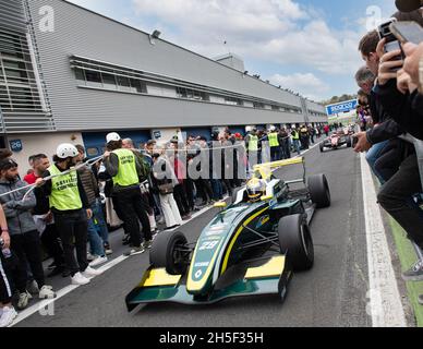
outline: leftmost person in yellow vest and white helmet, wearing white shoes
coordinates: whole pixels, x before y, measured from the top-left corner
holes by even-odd
[[[92,218],[93,212],[89,209],[80,174],[76,170],[71,170],[76,164],[77,156],[78,152],[74,145],[59,145],[53,156],[55,164],[36,181],[36,184],[43,185],[43,194],[49,197],[72,285],[86,285],[92,277],[101,273],[93,269],[87,261],[88,219]],[[49,176],[56,177],[44,180]]]

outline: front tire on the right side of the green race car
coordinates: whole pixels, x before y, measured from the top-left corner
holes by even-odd
[[[278,227],[279,244],[294,272],[310,270],[314,265],[314,244],[303,215],[282,217]]]

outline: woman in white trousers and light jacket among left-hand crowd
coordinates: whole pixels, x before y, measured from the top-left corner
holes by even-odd
[[[179,184],[173,168],[165,157],[165,151],[156,147],[153,154],[153,190],[159,194],[166,227],[177,228],[182,225],[181,214],[173,197],[173,188]]]

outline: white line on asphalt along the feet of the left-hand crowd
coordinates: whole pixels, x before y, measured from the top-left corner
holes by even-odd
[[[228,197],[226,197],[226,198],[228,198]],[[205,213],[207,213],[208,210],[210,210],[213,208],[214,207],[210,206],[210,207],[203,208],[202,210],[198,210],[197,213],[192,215],[191,219],[184,221],[181,225],[181,227],[188,225],[190,221],[198,218],[200,216],[204,215]],[[172,230],[167,230],[167,231],[174,231],[177,229],[180,229],[181,227],[178,227],[178,228],[172,229]],[[113,261],[105,264],[102,267],[98,268],[98,270],[101,272],[101,273],[105,273],[105,272],[111,269],[112,267],[117,266],[118,264],[122,263],[123,261],[125,261],[128,258],[129,258],[128,256],[121,255],[120,257],[117,257]],[[36,303],[36,304],[25,309],[24,311],[19,313],[19,315],[15,318],[15,321],[9,327],[13,327],[14,325],[17,325],[20,322],[28,318],[29,316],[34,315],[37,312],[39,312],[40,314],[43,314],[45,316],[51,315],[51,313],[49,313],[50,304],[53,304],[57,300],[63,298],[64,296],[71,293],[72,291],[74,291],[75,289],[77,289],[80,287],[81,286],[75,286],[75,285],[67,286],[67,287],[62,288],[61,290],[57,291],[57,297],[55,299],[43,300],[43,301],[39,301],[38,303]]]

